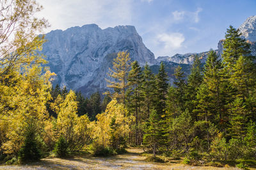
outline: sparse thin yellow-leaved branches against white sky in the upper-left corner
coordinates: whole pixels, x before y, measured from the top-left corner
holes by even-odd
[[[0,75],[19,63],[28,63],[30,52],[44,43],[38,36],[49,26],[47,20],[35,17],[42,6],[36,0],[0,1]]]

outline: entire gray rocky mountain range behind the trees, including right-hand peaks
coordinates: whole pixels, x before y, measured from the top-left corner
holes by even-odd
[[[242,37],[252,45],[252,54],[256,55],[256,16],[249,17],[239,27]],[[47,56],[48,66],[57,74],[53,85],[67,86],[68,89],[81,91],[88,97],[95,91],[100,93],[109,90],[105,79],[109,68],[119,51],[127,50],[132,60],[137,60],[141,66],[148,63],[153,72],[157,73],[159,65],[164,62],[168,72],[169,82],[174,81],[175,67],[182,66],[185,75],[189,75],[195,55],[200,56],[205,63],[208,52],[175,54],[175,56],[159,57],[145,47],[142,38],[134,26],[116,26],[100,29],[96,24],[82,27],[71,27],[65,31],[55,30],[47,33],[42,53]],[[223,42],[220,40],[218,49],[223,52]]]

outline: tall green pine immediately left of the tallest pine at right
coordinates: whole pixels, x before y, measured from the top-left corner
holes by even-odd
[[[223,87],[223,65],[216,52],[209,52],[204,67],[204,82],[200,86],[197,94],[198,112],[201,118],[214,121],[214,117],[219,120],[225,115],[225,89]],[[216,114],[216,116],[214,116]],[[214,117],[212,117],[214,116]]]

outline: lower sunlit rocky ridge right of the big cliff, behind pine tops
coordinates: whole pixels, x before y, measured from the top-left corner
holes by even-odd
[[[244,23],[239,27],[241,38],[245,38],[248,43],[251,44],[252,55],[256,56],[256,15],[248,17]],[[223,42],[220,40],[218,43],[218,49],[215,50],[218,56],[221,56],[223,52]],[[164,56],[157,58],[157,61],[173,61],[175,63],[189,64],[191,65],[194,61],[195,55],[200,56],[202,63],[205,63],[207,59],[207,52],[200,53],[188,53],[188,54],[175,54],[172,57]]]

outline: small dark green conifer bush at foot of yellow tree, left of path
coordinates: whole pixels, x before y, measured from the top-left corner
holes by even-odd
[[[63,136],[61,136],[55,147],[54,147],[54,153],[56,154],[57,157],[66,157],[68,155],[68,143],[65,140]]]

